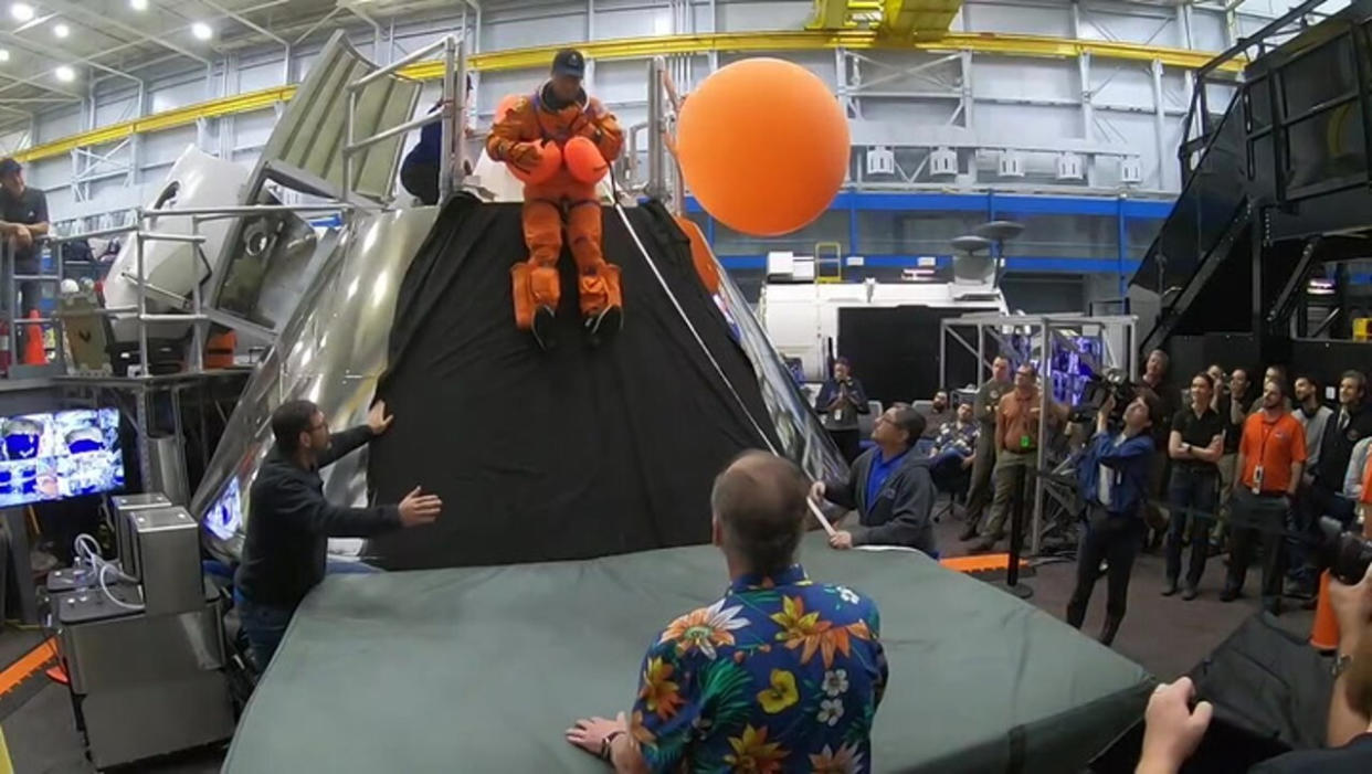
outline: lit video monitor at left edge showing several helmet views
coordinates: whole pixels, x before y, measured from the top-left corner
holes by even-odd
[[[0,419],[0,508],[123,489],[118,409]]]

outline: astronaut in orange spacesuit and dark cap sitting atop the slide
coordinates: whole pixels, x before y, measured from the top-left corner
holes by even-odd
[[[624,144],[615,115],[598,100],[586,96],[582,78],[586,58],[563,49],[553,58],[552,77],[531,96],[519,99],[504,118],[491,126],[486,152],[491,159],[521,170],[534,170],[546,143],[567,144],[587,137],[613,162]],[[593,344],[615,335],[623,324],[619,266],[605,262],[601,250],[601,206],[594,183],[572,177],[564,165],[547,183],[524,185],[524,242],[528,262],[510,269],[514,283],[514,322],[531,331],[543,350],[552,350],[553,318],[561,284],[557,258],[563,251],[563,231],[576,261],[582,317]]]

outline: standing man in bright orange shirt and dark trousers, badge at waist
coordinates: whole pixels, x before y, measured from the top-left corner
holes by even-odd
[[[1284,383],[1266,382],[1261,405],[1261,412],[1244,420],[1239,439],[1239,478],[1231,495],[1233,552],[1220,601],[1232,602],[1243,591],[1253,542],[1261,531],[1262,608],[1280,615],[1286,521],[1305,471],[1305,428],[1286,408]]]

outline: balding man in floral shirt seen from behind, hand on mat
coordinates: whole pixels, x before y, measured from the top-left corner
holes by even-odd
[[[713,542],[730,585],[653,640],[626,718],[567,740],[616,771],[858,771],[886,686],[877,605],[796,563],[805,476],[748,452],[715,479]]]

